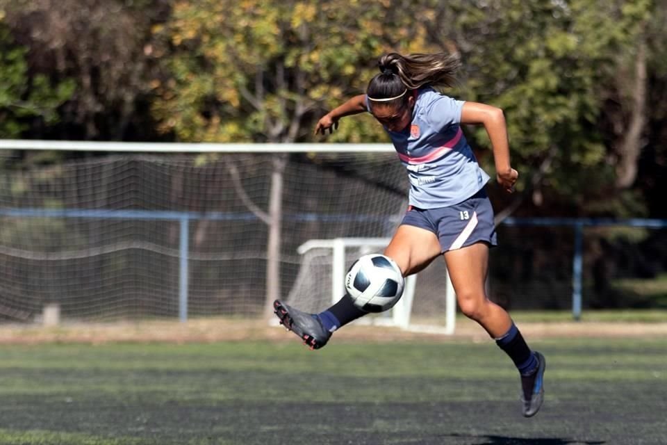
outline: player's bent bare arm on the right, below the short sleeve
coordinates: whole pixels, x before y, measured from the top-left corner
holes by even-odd
[[[513,192],[519,173],[509,162],[509,140],[505,115],[500,108],[465,102],[461,108],[461,124],[482,124],[493,147],[493,160],[498,183],[509,193]]]

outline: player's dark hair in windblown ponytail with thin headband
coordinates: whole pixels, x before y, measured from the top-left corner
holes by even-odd
[[[368,83],[366,93],[371,102],[404,104],[407,90],[424,86],[456,85],[456,71],[461,66],[457,54],[411,54],[402,56],[389,53],[377,62],[380,74]]]

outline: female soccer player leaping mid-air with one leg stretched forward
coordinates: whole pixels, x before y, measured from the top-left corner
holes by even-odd
[[[352,97],[324,115],[315,133],[331,133],[347,115],[370,112],[383,125],[410,179],[409,208],[384,254],[404,276],[417,273],[442,254],[461,312],[477,321],[511,357],[521,375],[522,413],[534,416],[543,401],[545,359],[528,348],[509,314],[488,300],[485,280],[489,246],[497,245],[493,208],[461,124],[482,124],[493,146],[496,179],[512,193],[518,172],[511,168],[500,108],[463,102],[434,86],[452,86],[459,59],[447,54],[391,53],[379,59],[365,95]],[[339,327],[366,313],[343,296],[320,314],[307,314],[276,300],[281,323],[313,349],[322,348]]]

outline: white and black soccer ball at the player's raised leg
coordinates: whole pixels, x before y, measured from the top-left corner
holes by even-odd
[[[356,307],[383,312],[403,295],[403,274],[393,259],[381,254],[364,255],[345,276],[345,288]]]

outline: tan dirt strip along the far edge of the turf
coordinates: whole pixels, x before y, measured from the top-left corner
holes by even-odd
[[[667,323],[521,323],[529,339],[559,337],[636,338],[667,336]],[[397,327],[349,325],[336,332],[337,341],[485,341],[488,335],[472,321],[458,321],[453,335],[409,332]],[[39,325],[0,326],[0,344],[295,341],[283,327],[265,320],[207,318],[186,323],[142,321],[115,323],[67,323],[56,327]]]

